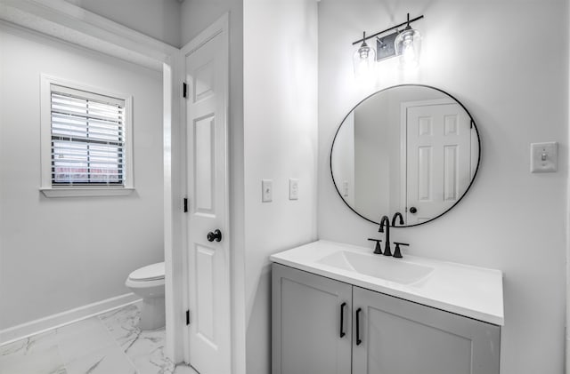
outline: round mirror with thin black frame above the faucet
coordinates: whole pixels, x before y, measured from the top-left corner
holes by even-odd
[[[338,127],[330,171],[338,195],[363,219],[403,214],[406,227],[443,215],[479,166],[467,109],[434,87],[403,84],[363,99]]]

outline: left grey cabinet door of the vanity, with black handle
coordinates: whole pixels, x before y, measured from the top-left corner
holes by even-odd
[[[350,374],[352,286],[273,264],[272,287],[273,374]]]

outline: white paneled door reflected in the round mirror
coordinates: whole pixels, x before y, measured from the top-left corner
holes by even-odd
[[[456,103],[407,106],[406,223],[447,211],[471,181],[471,119]]]

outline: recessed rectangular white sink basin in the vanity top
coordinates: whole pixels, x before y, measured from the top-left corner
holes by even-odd
[[[338,269],[401,284],[419,282],[426,279],[434,271],[433,267],[412,264],[402,259],[353,251],[337,251],[317,262],[329,267],[337,267]]]

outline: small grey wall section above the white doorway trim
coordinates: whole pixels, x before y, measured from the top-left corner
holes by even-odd
[[[180,47],[176,0],[65,0],[164,43]]]

